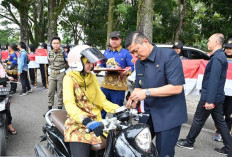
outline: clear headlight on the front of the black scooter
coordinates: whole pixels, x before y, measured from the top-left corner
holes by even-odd
[[[148,152],[151,148],[151,132],[149,128],[143,129],[136,137],[136,145],[144,152]]]

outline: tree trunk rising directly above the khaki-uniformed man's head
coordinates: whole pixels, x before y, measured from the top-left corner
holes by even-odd
[[[57,17],[55,16],[56,1],[48,0],[48,41],[57,36]]]

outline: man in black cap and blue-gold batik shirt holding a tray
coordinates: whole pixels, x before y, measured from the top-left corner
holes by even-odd
[[[104,52],[108,59],[101,67],[126,69],[124,72],[107,72],[101,84],[101,89],[107,100],[123,106],[125,91],[127,90],[127,76],[134,71],[134,62],[130,52],[121,46],[122,38],[118,31],[110,34],[110,47]],[[106,112],[102,111],[102,118]]]

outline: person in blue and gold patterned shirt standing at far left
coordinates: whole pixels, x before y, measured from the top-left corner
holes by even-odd
[[[8,61],[7,61],[7,75],[10,77],[13,77],[15,81],[18,80],[18,71],[17,71],[17,66],[18,66],[18,57],[16,54],[17,51],[17,45],[15,44],[10,44],[8,46]],[[10,94],[16,93],[17,89],[17,83],[11,82],[10,83]]]

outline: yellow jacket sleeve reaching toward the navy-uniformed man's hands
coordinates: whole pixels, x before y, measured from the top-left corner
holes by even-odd
[[[104,95],[104,93],[102,92],[102,90],[99,86],[99,83],[98,83],[96,76],[94,77],[94,81],[95,81],[95,84],[97,86],[97,89],[99,89],[98,93],[100,94],[100,97],[101,97],[101,103],[97,104],[97,105],[100,106],[101,108],[103,108],[106,112],[114,113],[114,111],[117,108],[119,108],[120,106],[117,104],[114,104],[106,99],[106,96]]]

